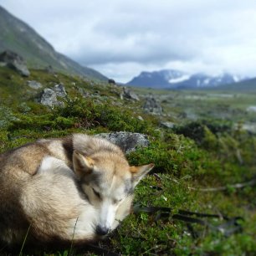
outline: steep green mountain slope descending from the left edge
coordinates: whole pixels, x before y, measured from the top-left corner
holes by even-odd
[[[56,52],[51,44],[33,28],[15,18],[0,6],[0,53],[11,50],[27,60],[28,67],[44,69],[51,65],[54,69],[68,73],[107,79],[94,69],[86,68]]]

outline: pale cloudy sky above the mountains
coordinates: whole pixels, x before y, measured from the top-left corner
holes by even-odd
[[[255,0],[0,0],[60,53],[120,82],[142,70],[256,76]]]

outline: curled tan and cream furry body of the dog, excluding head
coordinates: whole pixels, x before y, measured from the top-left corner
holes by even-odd
[[[94,207],[84,200],[75,178],[64,172],[65,168],[73,172],[70,168],[73,168],[74,148],[88,154],[109,150],[122,155],[118,147],[107,141],[79,134],[35,141],[0,155],[0,239],[10,244],[21,243],[32,225],[29,233],[44,241],[53,238],[53,234],[69,240],[70,229],[73,234],[81,212],[95,216]],[[61,160],[64,165],[59,172],[52,172],[56,171],[55,165],[45,174],[38,173],[42,160],[48,156]],[[92,219],[88,218],[88,223],[91,225]],[[79,223],[78,227],[84,224]],[[90,233],[91,228],[85,230]],[[92,237],[93,233],[74,233],[76,239]]]

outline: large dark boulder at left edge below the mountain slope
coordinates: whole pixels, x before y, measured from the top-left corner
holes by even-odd
[[[23,57],[12,51],[4,51],[0,54],[0,63],[2,63],[2,65],[7,65],[11,69],[17,70],[18,73],[23,76],[29,76],[30,74]]]

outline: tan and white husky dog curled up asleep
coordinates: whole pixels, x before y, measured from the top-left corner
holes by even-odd
[[[74,134],[0,155],[0,240],[8,245],[104,237],[131,209],[153,164],[129,166],[118,146]]]

